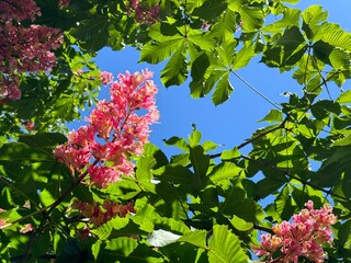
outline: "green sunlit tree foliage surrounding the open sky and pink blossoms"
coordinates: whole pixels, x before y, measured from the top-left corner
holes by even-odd
[[[42,15],[34,22],[60,28],[64,43],[55,50],[57,66],[19,75],[21,100],[0,106],[2,262],[248,262],[260,233],[272,233],[307,201],[330,203],[338,218],[333,247],[325,245],[328,262],[351,262],[351,91],[342,89],[351,77],[351,33],[329,22],[322,7],[299,10],[298,0],[70,0],[61,9],[57,1],[35,2]],[[279,19],[267,22],[272,16]],[[143,155],[128,157],[133,175],[105,188],[77,183],[81,174],[53,151],[67,141],[67,122],[98,102],[97,53],[125,46],[139,50],[140,61],[165,61],[165,87],[189,80],[192,98],[211,94],[215,105],[233,93],[230,77],[250,85],[237,70],[254,57],[287,71],[303,93],[273,104],[261,119],[265,126],[229,149],[193,127],[188,138],[165,140],[179,155],[147,144]],[[331,85],[340,88],[336,100]],[[109,199],[121,210],[94,225],[75,208],[77,199],[102,211]]]

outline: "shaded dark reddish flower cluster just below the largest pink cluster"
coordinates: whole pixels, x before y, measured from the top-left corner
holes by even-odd
[[[125,217],[127,213],[135,213],[132,203],[121,205],[115,202],[111,202],[110,199],[104,201],[104,203],[102,204],[102,208],[95,202],[93,203],[93,205],[90,205],[79,199],[76,199],[71,207],[73,209],[80,210],[81,215],[89,218],[90,222],[95,227],[105,224],[116,216]]]

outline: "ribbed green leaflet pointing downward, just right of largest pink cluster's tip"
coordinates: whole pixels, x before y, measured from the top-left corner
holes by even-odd
[[[180,46],[161,71],[161,81],[166,88],[180,85],[188,78],[188,61],[185,46]]]

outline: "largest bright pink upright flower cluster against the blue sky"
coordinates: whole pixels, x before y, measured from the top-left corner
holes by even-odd
[[[157,122],[157,87],[152,73],[118,75],[110,88],[111,101],[100,101],[88,118],[89,125],[69,134],[68,142],[55,151],[71,171],[88,172],[90,183],[106,187],[121,174],[132,174],[133,156],[143,152],[149,126]],[[137,114],[140,112],[140,116]]]

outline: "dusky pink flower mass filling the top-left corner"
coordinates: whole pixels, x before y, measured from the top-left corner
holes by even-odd
[[[56,57],[50,52],[63,43],[59,30],[21,24],[41,15],[33,0],[0,1],[0,101],[21,98],[19,75],[50,70]]]

